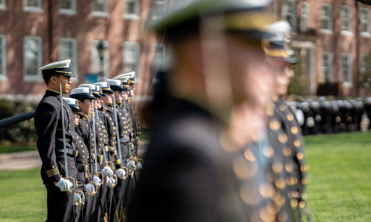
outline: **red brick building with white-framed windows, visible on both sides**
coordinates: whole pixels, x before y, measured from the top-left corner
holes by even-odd
[[[103,73],[136,71],[147,95],[164,47],[145,32],[169,0],[0,0],[0,95],[41,97],[37,69],[71,58],[73,87]],[[362,95],[357,81],[371,49],[371,0],[274,0],[293,27],[304,94]],[[152,10],[151,10],[152,9]],[[100,60],[98,46],[104,48]],[[137,97],[141,99],[142,97]]]

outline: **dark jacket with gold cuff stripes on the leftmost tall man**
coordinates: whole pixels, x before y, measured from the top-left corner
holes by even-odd
[[[76,135],[72,111],[65,101],[63,101],[63,107],[66,148],[75,149]],[[66,173],[64,154],[56,151],[56,149],[63,148],[61,102],[58,92],[46,90],[35,111],[35,128],[38,136],[37,148],[43,162],[41,174],[44,184],[59,181],[61,177],[66,176]],[[67,154],[67,163],[69,176],[76,178],[77,168],[74,155]]]

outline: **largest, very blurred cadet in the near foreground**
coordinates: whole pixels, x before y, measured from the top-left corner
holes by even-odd
[[[147,110],[152,140],[128,221],[291,221],[267,129],[276,94],[262,48],[269,4],[178,0],[151,25],[173,57]]]

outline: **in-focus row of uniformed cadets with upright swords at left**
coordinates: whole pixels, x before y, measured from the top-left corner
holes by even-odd
[[[71,61],[51,63],[40,70],[47,89],[35,113],[35,127],[47,190],[46,221],[124,221],[127,178],[141,168],[133,154],[138,145],[134,146],[135,123],[130,122],[132,115],[127,112],[133,108],[123,105],[128,94],[122,92],[130,86],[124,89],[121,80],[107,79],[79,85],[70,98],[63,98],[74,76]],[[129,80],[132,74],[124,75]],[[112,89],[108,82],[113,83]],[[112,109],[114,91],[116,111]],[[126,168],[128,161],[132,162],[131,170]]]

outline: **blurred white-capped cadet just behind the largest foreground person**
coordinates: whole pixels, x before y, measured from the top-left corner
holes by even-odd
[[[282,156],[282,174],[286,178],[285,189],[291,205],[291,220],[301,221],[300,209],[305,209],[309,216],[304,202],[307,178],[301,127],[293,111],[281,98],[287,94],[291,78],[294,76],[291,65],[296,63],[295,54],[291,49],[291,27],[286,21],[278,21],[267,26],[267,29],[272,35],[263,43],[263,48],[267,54],[267,61],[277,68],[277,95],[273,97],[275,111],[270,115],[269,130],[276,134],[280,144],[273,148],[277,152],[276,155]]]

